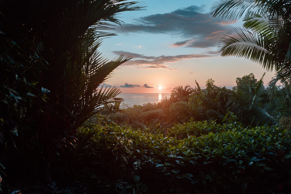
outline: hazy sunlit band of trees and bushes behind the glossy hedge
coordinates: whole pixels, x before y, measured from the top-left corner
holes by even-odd
[[[166,127],[189,120],[217,120],[225,123],[229,122],[225,119],[226,115],[232,115],[245,126],[276,125],[282,116],[290,116],[291,109],[287,100],[289,98],[286,97],[289,90],[278,86],[274,97],[270,98],[269,88],[263,86],[263,76],[259,81],[252,73],[242,78],[238,77],[237,85],[232,89],[218,87],[212,79],[207,80],[205,89],[201,89],[196,82],[197,88],[193,90],[194,92],[184,96],[184,100],[180,102],[175,102],[173,98],[163,99],[158,104],[144,104],[144,106],[122,109],[120,113],[113,113],[108,118],[135,129],[143,126],[155,129],[158,121],[168,123]],[[163,112],[162,116],[144,117],[149,111]]]

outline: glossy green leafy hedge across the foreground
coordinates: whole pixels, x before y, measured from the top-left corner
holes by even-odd
[[[107,128],[91,140],[88,155],[92,158],[87,163],[100,162],[98,167],[91,165],[91,173],[103,173],[112,180],[119,177],[132,186],[142,184],[149,193],[291,191],[287,130],[189,122],[164,136]],[[178,134],[183,136],[178,138]],[[133,176],[139,177],[138,182]]]

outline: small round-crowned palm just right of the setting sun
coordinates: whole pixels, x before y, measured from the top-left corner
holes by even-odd
[[[171,91],[171,97],[175,102],[184,101],[188,102],[190,95],[193,93],[193,88],[191,86],[186,85],[183,86],[175,86]]]

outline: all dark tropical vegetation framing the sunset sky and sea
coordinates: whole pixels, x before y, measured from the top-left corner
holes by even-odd
[[[128,107],[100,84],[129,58],[107,60],[98,48],[114,35],[104,30],[122,24],[118,13],[141,9],[136,2],[0,0],[0,192],[290,193],[289,7],[212,8],[214,17],[244,15],[221,54],[276,70],[280,86],[252,73],[232,89],[195,80]]]

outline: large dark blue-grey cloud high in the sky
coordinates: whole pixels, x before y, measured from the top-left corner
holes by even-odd
[[[140,17],[135,19],[132,24],[125,24],[127,27],[117,27],[117,30],[119,33],[125,34],[164,33],[178,35],[185,40],[174,43],[173,47],[187,45],[187,47],[208,48],[216,46],[219,38],[205,38],[214,33],[230,30],[230,24],[235,22],[237,21],[212,18],[210,13],[203,13],[202,7],[192,5],[169,13]]]

